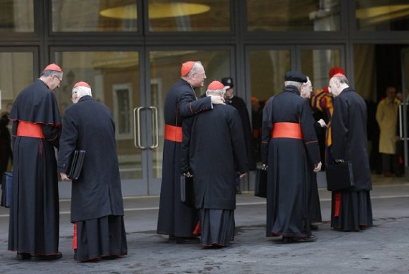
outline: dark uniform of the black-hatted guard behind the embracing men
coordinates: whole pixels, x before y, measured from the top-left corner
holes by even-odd
[[[243,126],[244,141],[247,150],[248,167],[251,171],[256,170],[256,160],[254,157],[254,147],[253,147],[253,134],[250,123],[250,116],[248,114],[246,103],[243,99],[233,96],[227,100],[227,103],[236,107],[239,111],[241,124]]]

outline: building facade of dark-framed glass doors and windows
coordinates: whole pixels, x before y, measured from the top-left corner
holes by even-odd
[[[341,66],[375,105],[409,79],[407,0],[0,0],[0,35],[1,111],[49,63],[64,70],[62,115],[72,85],[90,83],[112,110],[125,196],[160,192],[163,103],[185,61],[202,61],[205,86],[233,77],[250,113],[287,70],[318,89]]]

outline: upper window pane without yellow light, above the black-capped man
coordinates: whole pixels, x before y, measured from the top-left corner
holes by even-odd
[[[247,0],[247,30],[339,31],[339,5],[339,0]]]

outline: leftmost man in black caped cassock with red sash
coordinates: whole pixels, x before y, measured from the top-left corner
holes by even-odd
[[[55,94],[63,71],[48,65],[24,88],[10,111],[13,121],[13,194],[8,250],[17,259],[61,258],[58,251],[58,175],[54,147],[61,133]]]

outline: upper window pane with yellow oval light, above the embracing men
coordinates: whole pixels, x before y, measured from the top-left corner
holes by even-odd
[[[149,0],[151,32],[229,32],[229,0]]]

